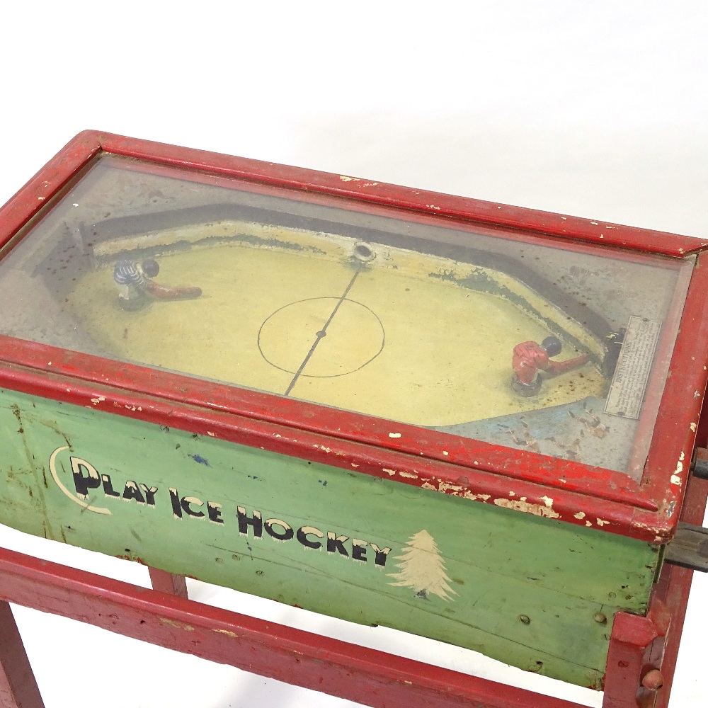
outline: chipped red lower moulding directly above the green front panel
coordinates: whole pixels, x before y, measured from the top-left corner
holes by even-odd
[[[561,489],[553,490],[551,493],[554,497],[549,498],[547,486],[509,479],[501,474],[470,470],[405,452],[379,450],[361,442],[328,438],[321,433],[293,430],[277,423],[244,418],[233,413],[199,409],[185,404],[173,405],[156,396],[138,395],[105,386],[89,387],[76,382],[76,379],[38,374],[22,367],[8,367],[2,362],[0,380],[9,383],[12,390],[93,411],[118,413],[198,435],[261,447],[282,455],[392,479],[469,501],[482,501],[496,506],[513,506],[518,503],[516,508],[535,515],[583,527],[590,522],[593,527],[605,531],[656,542],[654,527],[647,530],[641,525],[630,525],[638,512],[625,503]],[[655,515],[647,511],[644,513],[646,518],[654,519]],[[660,524],[661,519],[653,523]],[[664,532],[668,535],[670,528],[666,527]]]

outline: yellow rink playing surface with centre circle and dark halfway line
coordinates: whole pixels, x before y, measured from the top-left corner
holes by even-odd
[[[372,246],[375,258],[362,265],[352,258],[354,239],[290,230],[283,245],[267,236],[159,256],[155,282],[196,285],[198,299],[125,312],[114,259],[88,273],[69,302],[109,355],[420,426],[604,392],[593,364],[549,379],[535,397],[513,391],[513,348],[556,332],[530,307],[460,285],[460,278],[484,271],[561,323],[585,350],[597,353],[599,345],[506,275],[387,246]],[[557,359],[576,355],[566,340]]]

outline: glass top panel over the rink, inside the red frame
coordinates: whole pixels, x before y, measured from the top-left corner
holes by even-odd
[[[693,265],[103,155],[0,331],[640,479]]]

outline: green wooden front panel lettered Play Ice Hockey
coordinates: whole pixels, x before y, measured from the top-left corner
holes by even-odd
[[[599,687],[612,618],[646,610],[658,558],[634,539],[16,392],[0,394],[0,453],[6,525],[578,685]]]

